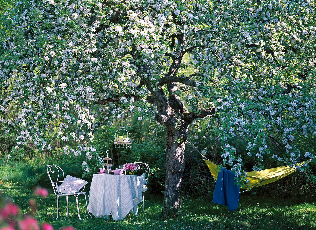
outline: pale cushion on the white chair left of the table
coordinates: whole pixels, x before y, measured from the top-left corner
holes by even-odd
[[[57,187],[57,191],[63,194],[72,194],[82,189],[88,181],[67,175],[63,183]]]

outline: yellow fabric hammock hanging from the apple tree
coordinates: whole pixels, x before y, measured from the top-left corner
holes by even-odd
[[[210,160],[206,160],[206,159],[203,159],[203,160],[209,167],[214,177],[214,180],[216,181],[217,175],[218,175],[217,164],[214,164]],[[302,165],[309,162],[310,161],[304,161],[302,163],[297,163],[296,165]],[[274,181],[280,180],[281,178],[287,175],[290,175],[294,171],[295,171],[295,168],[290,168],[289,166],[281,166],[281,167],[276,167],[272,169],[264,169],[260,172],[258,171],[247,172],[247,176],[245,176],[245,178],[248,179],[250,182],[247,184],[246,187],[240,186],[240,189],[247,189],[249,191],[253,187],[266,185]]]

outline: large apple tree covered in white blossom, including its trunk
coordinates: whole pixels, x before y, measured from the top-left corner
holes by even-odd
[[[313,157],[295,141],[316,134],[314,22],[308,0],[16,1],[1,21],[1,130],[16,148],[50,151],[56,135],[91,159],[100,124],[154,109],[166,133],[162,215],[174,216],[198,118],[216,119],[223,165],[240,178],[245,157],[255,170]]]

